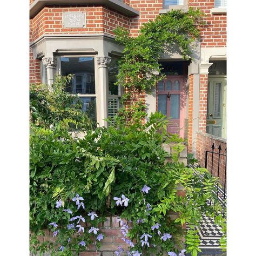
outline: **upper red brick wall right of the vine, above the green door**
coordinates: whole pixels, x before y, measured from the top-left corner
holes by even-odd
[[[206,28],[201,30],[201,47],[224,47],[227,42],[227,15],[210,13],[214,0],[189,0],[188,6],[200,9],[205,13]]]

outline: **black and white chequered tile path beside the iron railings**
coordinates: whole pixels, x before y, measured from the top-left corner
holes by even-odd
[[[192,166],[190,166],[192,167]],[[193,168],[193,167],[192,167]],[[194,169],[194,174],[201,177],[201,175]],[[203,177],[201,177],[203,178]],[[221,188],[218,188],[218,199],[220,203],[225,204],[224,198],[226,198],[226,194],[224,197],[224,191]],[[209,202],[210,203],[210,202]],[[225,204],[226,206],[226,204]],[[189,229],[190,227],[187,227]],[[198,230],[198,235],[200,238],[200,246],[201,253],[198,255],[226,255],[220,248],[219,239],[222,236],[221,227],[214,223],[214,220],[210,217],[204,216],[203,220],[200,221],[199,226],[195,226]]]

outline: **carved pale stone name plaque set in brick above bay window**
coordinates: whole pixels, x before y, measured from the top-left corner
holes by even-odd
[[[63,12],[62,24],[64,28],[85,27],[85,13],[80,11]]]

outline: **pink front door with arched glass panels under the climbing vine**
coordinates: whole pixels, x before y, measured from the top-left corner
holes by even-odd
[[[183,76],[167,76],[158,82],[157,111],[171,117],[167,131],[184,138],[185,86]]]

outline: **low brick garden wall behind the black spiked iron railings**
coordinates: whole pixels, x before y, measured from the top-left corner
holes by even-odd
[[[199,160],[201,167],[205,167],[205,152],[212,151],[212,144],[214,143],[214,152],[219,152],[218,147],[221,146],[221,154],[226,154],[226,139],[213,136],[208,133],[198,132],[197,133],[197,152],[196,158]],[[212,154],[207,154],[207,170],[211,171],[211,166],[213,164],[213,176],[218,177],[218,155],[213,154],[213,163],[212,163]],[[220,156],[220,165],[219,165],[219,177],[220,184],[224,187],[225,182],[225,160],[226,157]]]

